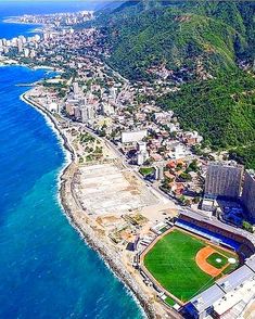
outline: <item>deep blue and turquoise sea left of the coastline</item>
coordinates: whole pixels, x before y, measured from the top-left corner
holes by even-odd
[[[22,11],[7,2],[1,17],[33,13],[35,5]],[[35,7],[37,13],[48,10],[44,3]],[[0,23],[0,38],[29,31],[30,26]],[[44,117],[20,100],[26,88],[15,86],[44,76],[41,69],[0,67],[0,318],[142,318],[59,205],[64,151]]]

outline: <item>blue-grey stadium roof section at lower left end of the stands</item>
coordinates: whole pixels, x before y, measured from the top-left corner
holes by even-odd
[[[193,304],[195,309],[201,314],[209,306],[212,306],[215,302],[221,298],[225,295],[224,291],[214,284],[203,293],[196,295],[190,302]]]

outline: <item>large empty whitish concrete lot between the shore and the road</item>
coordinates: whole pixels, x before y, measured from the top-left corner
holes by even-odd
[[[143,183],[135,183],[129,173],[114,164],[80,167],[79,181],[74,191],[90,215],[122,216],[158,203],[157,197]]]

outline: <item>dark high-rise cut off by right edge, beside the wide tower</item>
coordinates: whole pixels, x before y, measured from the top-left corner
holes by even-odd
[[[255,220],[255,170],[253,169],[245,171],[241,200],[250,218]]]

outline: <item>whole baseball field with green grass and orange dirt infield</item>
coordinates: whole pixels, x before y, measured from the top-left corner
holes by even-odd
[[[239,260],[232,251],[174,229],[151,247],[143,264],[161,286],[186,303],[235,269]]]

